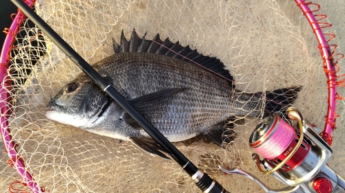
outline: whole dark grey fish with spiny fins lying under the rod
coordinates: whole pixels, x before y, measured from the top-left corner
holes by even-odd
[[[150,40],[133,30],[127,40],[122,32],[120,43],[113,39],[113,49],[115,54],[92,67],[171,142],[204,134],[224,147],[232,140],[224,137],[228,117],[266,117],[290,106],[301,90],[244,93],[235,88],[219,59],[179,41],[162,41],[159,34]],[[151,155],[169,159],[169,152],[85,73],[66,84],[46,107],[50,120],[132,141]]]

